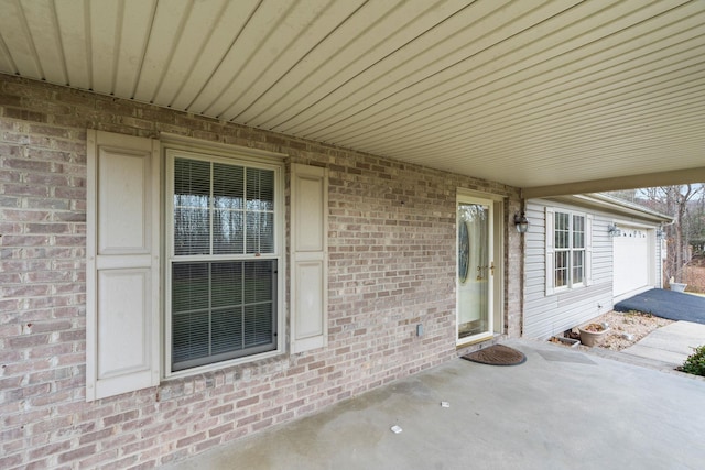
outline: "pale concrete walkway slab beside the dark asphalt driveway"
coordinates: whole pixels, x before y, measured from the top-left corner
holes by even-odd
[[[694,347],[702,345],[705,345],[705,325],[676,321],[651,331],[641,341],[621,352],[653,359],[676,368],[693,353]]]

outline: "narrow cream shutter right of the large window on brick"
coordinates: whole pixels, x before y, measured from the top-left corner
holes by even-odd
[[[328,342],[328,179],[317,166],[291,168],[291,350]]]

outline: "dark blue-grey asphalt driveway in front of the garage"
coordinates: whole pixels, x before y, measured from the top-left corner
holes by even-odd
[[[670,320],[705,324],[705,297],[662,288],[652,288],[619,302],[615,310],[637,310]]]

